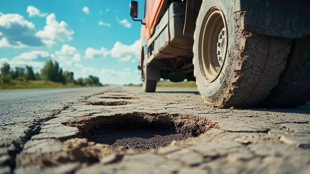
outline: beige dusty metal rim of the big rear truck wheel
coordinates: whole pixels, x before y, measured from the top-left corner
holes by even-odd
[[[202,22],[199,34],[199,64],[208,82],[220,74],[227,52],[227,27],[223,12],[212,7]]]

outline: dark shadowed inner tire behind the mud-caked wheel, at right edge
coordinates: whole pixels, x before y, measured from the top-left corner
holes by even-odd
[[[310,101],[310,36],[292,41],[286,69],[263,107],[298,107]]]

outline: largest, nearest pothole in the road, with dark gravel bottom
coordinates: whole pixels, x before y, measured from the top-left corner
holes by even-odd
[[[78,127],[89,141],[140,150],[168,146],[171,141],[186,140],[219,128],[217,123],[201,116],[137,112],[78,118],[64,124]]]

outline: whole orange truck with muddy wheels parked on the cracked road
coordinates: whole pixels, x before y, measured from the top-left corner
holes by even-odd
[[[309,0],[144,0],[139,70],[196,81],[212,107],[296,107],[310,100]]]

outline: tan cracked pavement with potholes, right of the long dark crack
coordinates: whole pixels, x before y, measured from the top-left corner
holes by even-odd
[[[14,173],[309,173],[308,108],[217,109],[202,105],[194,91],[173,90],[108,87],[72,99],[37,124],[40,132],[30,135],[19,154],[1,154],[0,171],[9,173],[14,160]],[[139,129],[153,126],[148,121],[174,123],[177,133],[167,134],[170,127],[161,133],[156,126]],[[193,132],[202,134],[179,140],[179,133]],[[179,141],[145,149],[173,139]]]

